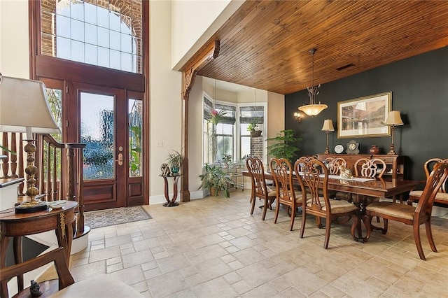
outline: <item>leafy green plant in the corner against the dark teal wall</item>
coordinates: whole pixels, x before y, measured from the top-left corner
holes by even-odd
[[[302,138],[297,138],[294,134],[294,129],[284,129],[274,138],[267,139],[268,142],[271,142],[271,144],[267,146],[268,154],[276,158],[283,157],[290,162],[293,162],[295,152],[300,151],[299,148],[293,146],[293,143],[302,141]]]

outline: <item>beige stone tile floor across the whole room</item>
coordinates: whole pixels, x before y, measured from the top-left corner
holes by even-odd
[[[387,235],[358,243],[351,221],[333,225],[325,250],[313,218],[300,239],[301,215],[292,232],[283,208],[277,224],[274,211],[262,221],[249,194],[145,206],[153,219],[92,229],[71,274],[110,274],[145,297],[447,297],[448,218],[433,218],[438,253],[421,227],[424,262],[410,226],[390,222]]]

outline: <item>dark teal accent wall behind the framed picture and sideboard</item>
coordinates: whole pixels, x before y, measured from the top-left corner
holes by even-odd
[[[316,99],[328,108],[314,118],[305,115],[301,123],[294,121],[293,113],[309,103],[307,90],[285,97],[285,127],[302,137],[300,155],[325,151],[323,120],[332,119],[337,129],[338,101],[391,91],[392,109],[400,111],[405,123],[396,127],[394,145],[395,152],[407,156],[407,178],[422,180],[427,159],[448,158],[448,47],[322,84],[320,90]],[[372,144],[379,146],[380,154],[391,145],[390,136],[351,139],[360,143],[360,153],[365,154]],[[337,144],[346,148],[351,139],[337,139],[337,132],[330,132],[330,151]]]

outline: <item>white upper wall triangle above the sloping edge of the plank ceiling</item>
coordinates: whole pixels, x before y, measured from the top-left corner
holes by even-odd
[[[179,70],[244,0],[173,0],[172,68]]]

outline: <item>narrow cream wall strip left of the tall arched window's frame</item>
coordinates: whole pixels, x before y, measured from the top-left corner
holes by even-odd
[[[28,0],[0,0],[0,73],[29,78]]]

